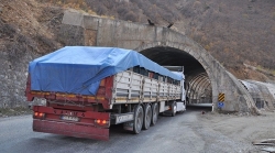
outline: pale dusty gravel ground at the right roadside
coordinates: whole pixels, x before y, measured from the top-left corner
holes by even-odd
[[[209,127],[235,142],[248,144],[248,152],[257,153],[264,145],[253,145],[255,140],[275,139],[275,113],[262,111],[261,116],[219,114],[209,112],[199,114],[204,127]]]

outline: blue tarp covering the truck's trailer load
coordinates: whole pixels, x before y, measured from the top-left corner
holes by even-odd
[[[30,63],[31,89],[96,95],[101,79],[134,66],[177,80],[183,78],[135,51],[118,47],[66,46]]]

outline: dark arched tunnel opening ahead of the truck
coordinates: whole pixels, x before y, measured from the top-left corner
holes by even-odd
[[[185,51],[157,46],[140,52],[163,66],[184,66],[187,107],[212,107],[212,87],[202,65]]]

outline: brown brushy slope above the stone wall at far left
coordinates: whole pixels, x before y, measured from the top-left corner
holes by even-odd
[[[56,36],[61,8],[35,0],[3,0],[0,8],[0,51],[45,54],[62,46]]]

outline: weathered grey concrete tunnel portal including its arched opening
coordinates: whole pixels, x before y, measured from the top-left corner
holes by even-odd
[[[66,32],[79,32],[82,45],[133,50],[160,65],[184,66],[188,105],[211,107],[213,111],[258,113],[244,86],[202,46],[182,33],[70,10],[65,11],[62,23]],[[67,41],[74,42],[74,36]],[[221,94],[223,106],[218,108]]]

